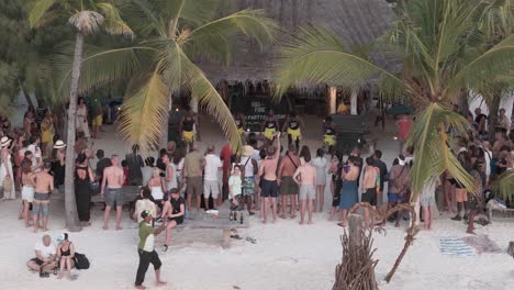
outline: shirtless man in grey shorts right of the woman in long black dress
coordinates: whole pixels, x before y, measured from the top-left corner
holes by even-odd
[[[122,230],[120,226],[122,207],[123,207],[123,193],[121,188],[125,177],[123,175],[123,168],[120,167],[120,158],[118,155],[111,157],[111,166],[103,169],[103,180],[101,196],[104,196],[105,185],[109,185],[108,192],[105,194],[105,212],[103,213],[103,230],[109,228],[109,214],[111,213],[112,207],[116,205],[116,230]]]

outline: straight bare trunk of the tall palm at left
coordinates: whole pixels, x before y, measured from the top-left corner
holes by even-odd
[[[82,66],[83,34],[79,31],[75,41],[74,67],[71,70],[71,89],[69,93],[68,109],[68,141],[66,148],[66,171],[65,171],[65,211],[66,227],[70,232],[82,230],[77,214],[77,203],[75,201],[74,168],[75,168],[75,131],[78,85],[80,78],[80,67]]]

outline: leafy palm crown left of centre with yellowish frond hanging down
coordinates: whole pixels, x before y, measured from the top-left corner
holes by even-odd
[[[214,115],[232,146],[241,146],[235,122],[199,60],[230,64],[241,36],[270,45],[276,23],[260,10],[223,14],[219,0],[132,0],[123,10],[138,43],[91,48],[82,65],[81,89],[128,79],[120,132],[142,149],[163,140],[174,93],[188,91]],[[221,16],[220,16],[221,15]],[[58,60],[67,71],[66,58]],[[69,76],[64,76],[66,79]]]

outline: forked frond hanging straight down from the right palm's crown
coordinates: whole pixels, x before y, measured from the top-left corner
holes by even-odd
[[[465,132],[466,119],[435,102],[416,118],[406,143],[406,146],[414,146],[414,165],[411,168],[413,199],[421,193],[429,178],[440,176],[445,170],[448,170],[469,191],[474,190],[473,179],[451,152],[446,134],[448,125],[457,132]]]

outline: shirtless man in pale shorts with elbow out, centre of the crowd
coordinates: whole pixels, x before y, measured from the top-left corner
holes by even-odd
[[[312,224],[313,203],[316,199],[316,168],[311,165],[311,153],[305,150],[303,159],[305,160],[293,175],[294,182],[300,185],[300,224],[303,224],[305,217],[305,208],[309,205],[309,221]]]

